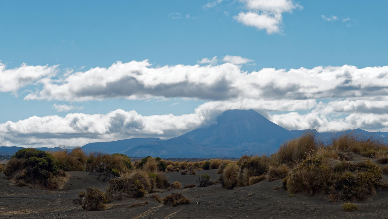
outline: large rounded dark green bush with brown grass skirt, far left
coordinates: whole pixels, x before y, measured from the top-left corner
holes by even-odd
[[[12,156],[5,166],[4,174],[16,184],[42,184],[48,189],[56,189],[59,186],[59,177],[66,176],[58,166],[59,161],[49,153],[25,148]]]

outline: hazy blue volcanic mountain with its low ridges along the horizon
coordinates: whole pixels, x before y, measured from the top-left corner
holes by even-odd
[[[131,157],[209,158],[240,157],[243,154],[272,154],[279,146],[306,131],[313,131],[318,139],[329,141],[331,137],[354,132],[365,137],[383,138],[388,132],[368,132],[362,129],[339,132],[314,130],[286,130],[272,123],[254,110],[227,110],[217,117],[216,123],[189,131],[168,140],[159,138],[130,138],[113,142],[94,142],[81,148],[86,152],[107,154],[123,153]],[[0,154],[14,154],[21,147],[0,147]],[[40,150],[60,150],[42,148]]]

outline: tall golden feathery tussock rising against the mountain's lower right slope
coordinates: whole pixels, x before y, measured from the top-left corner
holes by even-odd
[[[279,163],[293,164],[308,158],[310,154],[317,151],[317,148],[318,143],[315,140],[314,132],[303,133],[299,138],[283,143],[274,157]]]

